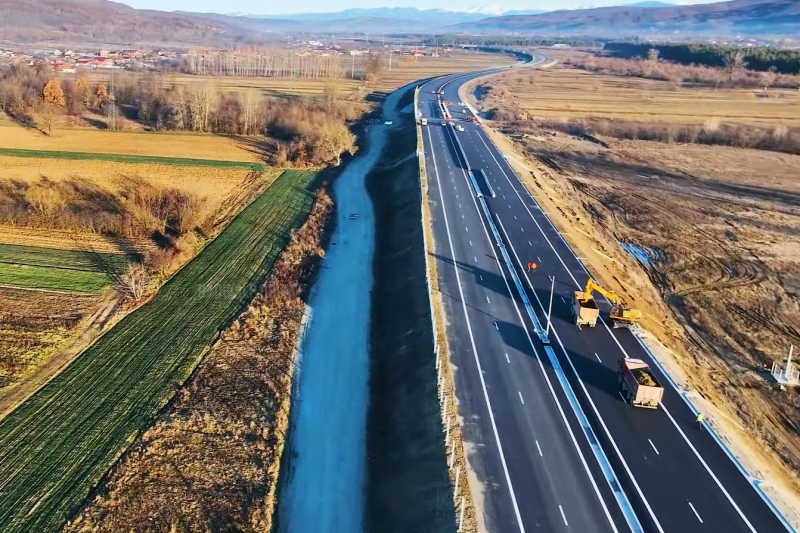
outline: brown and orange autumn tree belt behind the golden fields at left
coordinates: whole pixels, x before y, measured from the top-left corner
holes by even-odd
[[[155,131],[260,137],[264,158],[281,166],[338,165],[343,153],[354,152],[347,122],[365,111],[363,98],[363,91],[344,94],[336,80],[326,83],[320,98],[286,100],[256,89],[221,91],[209,80],[171,83],[159,73],[118,75],[112,87],[84,77],[56,78],[46,66],[0,70],[0,109],[45,133],[62,115],[118,113]]]

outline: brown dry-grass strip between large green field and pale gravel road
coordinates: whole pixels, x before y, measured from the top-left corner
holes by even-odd
[[[65,532],[270,531],[302,296],[332,207],[321,190],[250,307]]]

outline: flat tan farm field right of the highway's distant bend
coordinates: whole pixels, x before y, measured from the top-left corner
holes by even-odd
[[[704,124],[707,120],[762,127],[800,126],[800,94],[677,87],[673,82],[602,75],[576,69],[508,73],[487,85],[505,87],[513,104],[537,119],[614,119]]]

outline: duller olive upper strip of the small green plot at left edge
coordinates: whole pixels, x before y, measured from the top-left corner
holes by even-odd
[[[123,272],[130,259],[123,254],[0,244],[0,263],[11,265],[82,270],[86,272]]]

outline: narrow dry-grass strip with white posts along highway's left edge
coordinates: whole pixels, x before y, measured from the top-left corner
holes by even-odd
[[[414,91],[414,115],[419,118],[419,87]],[[419,158],[420,204],[422,230],[425,236],[425,269],[428,283],[428,298],[431,308],[434,353],[436,355],[436,385],[442,415],[442,431],[453,490],[453,509],[459,532],[477,532],[478,522],[475,506],[467,482],[467,458],[464,453],[461,426],[458,422],[458,405],[455,396],[447,337],[444,330],[444,310],[439,295],[439,282],[436,265],[430,260],[434,247],[433,224],[428,205],[428,176],[425,168],[425,151],[422,141],[422,127],[417,122],[417,155]]]

